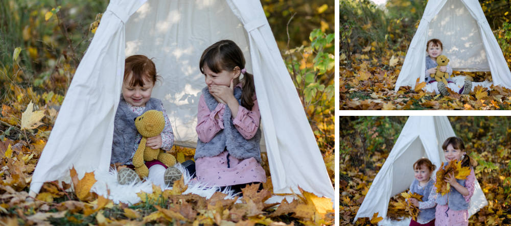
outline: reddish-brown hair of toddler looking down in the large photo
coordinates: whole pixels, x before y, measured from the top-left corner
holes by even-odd
[[[124,61],[124,82],[132,74],[129,81],[130,86],[144,86],[144,78],[153,82],[153,86],[158,80],[156,75],[156,66],[154,62],[144,55],[133,55]]]

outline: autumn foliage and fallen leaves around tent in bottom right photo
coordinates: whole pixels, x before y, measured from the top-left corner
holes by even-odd
[[[340,225],[371,225],[383,219],[375,215],[353,222],[407,118],[339,118]],[[455,116],[449,117],[449,121],[456,136],[464,141],[465,148],[477,162],[474,172],[488,201],[487,206],[469,218],[469,225],[511,224],[511,117]],[[447,171],[454,171],[459,177],[469,173],[454,164],[447,167]],[[438,186],[442,191],[447,189],[446,184]],[[409,207],[405,197],[406,194],[398,194],[389,200],[388,217],[396,220],[416,214],[416,209]]]

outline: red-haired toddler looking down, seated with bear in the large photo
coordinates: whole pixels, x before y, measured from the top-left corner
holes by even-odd
[[[132,165],[133,155],[142,139],[142,135],[135,128],[134,118],[149,110],[163,112],[165,128],[160,135],[147,138],[146,146],[153,149],[170,150],[174,144],[174,133],[165,108],[159,99],[151,98],[156,80],[156,67],[149,58],[143,55],[126,58],[122,95],[114,119],[110,160],[110,164],[114,168],[120,165],[127,166],[118,173],[119,184],[140,181]],[[181,172],[177,168],[167,167],[158,160],[145,162],[145,165],[149,168],[148,179],[155,185],[172,186],[174,181],[181,178]]]

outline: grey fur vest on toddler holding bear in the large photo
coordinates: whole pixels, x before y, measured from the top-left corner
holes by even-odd
[[[150,98],[146,102],[144,112],[149,110],[163,111],[161,106],[162,104],[159,99]],[[121,95],[121,101],[119,101],[119,107],[117,112],[115,112],[115,119],[113,121],[112,157],[110,158],[110,164],[118,162],[125,164],[129,161],[136,142],[136,135],[138,134],[134,122],[134,119],[138,116],[140,115],[129,109],[128,103],[126,103]]]

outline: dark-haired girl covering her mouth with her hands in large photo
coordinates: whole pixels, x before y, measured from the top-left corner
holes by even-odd
[[[207,86],[197,114],[198,181],[230,186],[235,192],[252,183],[261,188],[266,182],[260,165],[261,113],[240,47],[231,40],[219,41],[202,53],[199,66]]]

